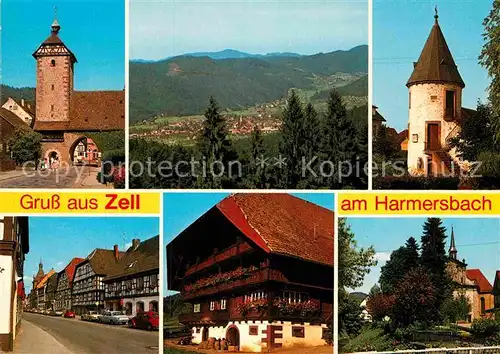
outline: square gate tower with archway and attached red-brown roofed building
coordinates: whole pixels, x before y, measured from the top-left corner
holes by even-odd
[[[33,53],[34,130],[43,136],[42,158],[69,165],[83,160],[98,163],[99,147],[87,135],[125,129],[125,92],[75,91],[77,59],[59,37],[60,30],[55,20],[50,36]]]

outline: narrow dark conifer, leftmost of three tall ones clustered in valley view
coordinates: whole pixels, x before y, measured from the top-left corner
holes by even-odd
[[[304,143],[304,109],[299,97],[294,90],[288,97],[288,102],[283,111],[283,124],[281,126],[280,154],[286,159],[283,169],[282,187],[296,188],[301,179],[302,148]]]

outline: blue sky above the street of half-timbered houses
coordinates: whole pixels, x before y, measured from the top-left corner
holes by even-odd
[[[30,217],[30,251],[24,263],[26,292],[43,261],[45,273],[57,272],[74,257],[85,258],[95,248],[126,251],[132,239],[146,240],[159,234],[159,218],[151,217]]]

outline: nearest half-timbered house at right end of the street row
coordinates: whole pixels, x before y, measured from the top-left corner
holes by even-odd
[[[125,311],[127,316],[155,311],[159,307],[159,236],[132,240],[116,266],[104,278],[105,307]]]

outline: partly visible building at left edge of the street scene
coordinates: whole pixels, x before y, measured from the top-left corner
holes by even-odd
[[[21,328],[24,259],[29,252],[27,217],[0,216],[0,351],[14,350]]]

